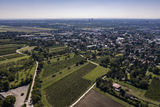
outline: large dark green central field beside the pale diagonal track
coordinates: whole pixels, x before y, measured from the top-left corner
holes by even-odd
[[[72,104],[91,85],[91,81],[84,79],[83,76],[94,68],[96,65],[89,63],[47,87],[45,89],[47,101],[54,107]]]

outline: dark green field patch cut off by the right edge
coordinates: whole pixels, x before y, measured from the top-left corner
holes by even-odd
[[[160,80],[158,78],[153,78],[145,96],[150,99],[160,101]]]

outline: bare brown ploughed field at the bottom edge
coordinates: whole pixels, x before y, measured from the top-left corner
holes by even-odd
[[[124,106],[92,89],[74,107],[124,107]]]

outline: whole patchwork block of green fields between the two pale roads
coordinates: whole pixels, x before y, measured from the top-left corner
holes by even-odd
[[[42,102],[47,107],[71,105],[97,78],[108,72],[107,68],[91,62],[77,65],[84,59],[74,54],[69,55],[55,56],[44,64],[40,75],[41,93]]]

